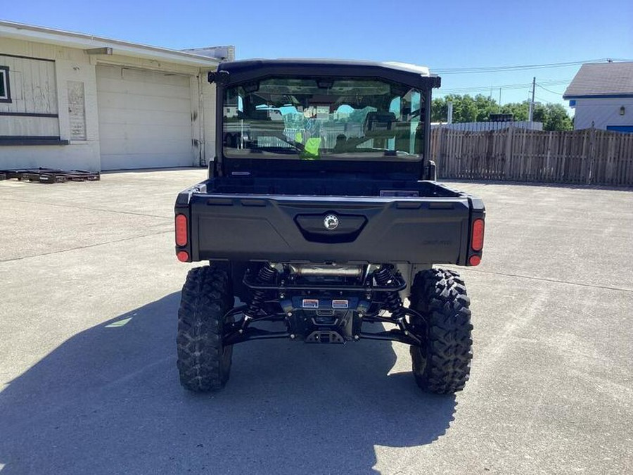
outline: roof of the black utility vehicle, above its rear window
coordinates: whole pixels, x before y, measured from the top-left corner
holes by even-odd
[[[409,63],[357,61],[343,59],[248,59],[220,63],[218,71],[229,72],[229,84],[274,75],[319,75],[382,77],[414,87],[440,87],[440,77],[426,66]]]

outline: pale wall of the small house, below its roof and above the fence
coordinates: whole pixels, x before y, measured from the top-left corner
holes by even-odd
[[[620,107],[625,106],[625,115]],[[633,125],[633,98],[623,99],[576,99],[575,129],[606,129],[607,125]]]

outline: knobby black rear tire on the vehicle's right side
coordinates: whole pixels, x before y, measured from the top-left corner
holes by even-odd
[[[427,322],[423,346],[411,346],[418,386],[431,393],[461,391],[471,372],[471,300],[457,272],[430,269],[418,272],[411,288],[411,308]]]

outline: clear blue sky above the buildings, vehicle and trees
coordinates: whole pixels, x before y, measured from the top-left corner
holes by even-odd
[[[233,44],[237,58],[354,58],[445,68],[633,60],[632,0],[25,0],[2,2],[4,20],[173,49]],[[442,89],[499,99],[499,86],[532,76],[562,102],[578,65],[442,74]],[[529,87],[504,89],[523,101]],[[437,93],[436,93],[437,94]]]

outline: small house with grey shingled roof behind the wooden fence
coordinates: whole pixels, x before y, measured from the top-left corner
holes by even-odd
[[[575,109],[575,129],[633,132],[633,63],[582,65],[563,99]]]

